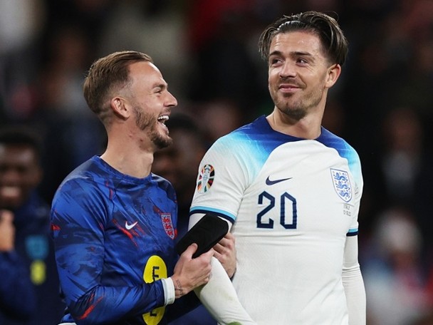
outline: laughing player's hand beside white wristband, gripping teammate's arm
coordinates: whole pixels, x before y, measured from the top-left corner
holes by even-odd
[[[172,281],[176,298],[180,298],[191,292],[193,289],[207,284],[211,275],[211,259],[214,255],[214,249],[209,250],[199,257],[193,259],[192,254],[197,250],[197,244],[191,244],[180,255],[174,267]]]

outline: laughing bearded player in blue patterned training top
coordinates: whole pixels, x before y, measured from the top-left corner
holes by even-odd
[[[165,121],[177,100],[152,58],[135,51],[95,61],[83,91],[108,145],[71,172],[53,199],[51,228],[68,306],[62,323],[167,324],[168,306],[180,312],[197,306],[193,293],[181,299],[182,308],[173,303],[207,283],[216,261],[214,249],[193,259],[197,244],[177,256],[176,195],[150,172],[155,150],[172,143]],[[231,311],[216,316],[221,324],[249,320],[239,301],[226,304]]]

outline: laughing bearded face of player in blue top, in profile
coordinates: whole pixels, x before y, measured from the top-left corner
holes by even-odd
[[[177,105],[176,98],[169,93],[167,83],[153,63],[132,63],[130,81],[125,97],[132,106],[136,127],[145,131],[156,148],[167,147],[172,138],[165,121]]]

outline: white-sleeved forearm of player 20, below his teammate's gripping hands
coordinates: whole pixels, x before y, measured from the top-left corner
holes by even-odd
[[[241,306],[233,284],[217,259],[212,258],[209,282],[194,292],[219,324],[256,324]]]

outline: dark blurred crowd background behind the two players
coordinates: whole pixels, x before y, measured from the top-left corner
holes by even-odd
[[[350,43],[323,124],[358,150],[365,180],[360,264],[369,325],[433,324],[432,0],[1,0],[0,128],[44,140],[47,202],[101,153],[82,95],[90,64],[150,54],[211,144],[273,104],[257,42],[283,14],[325,11]]]

